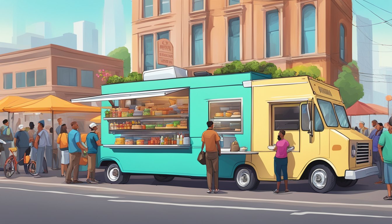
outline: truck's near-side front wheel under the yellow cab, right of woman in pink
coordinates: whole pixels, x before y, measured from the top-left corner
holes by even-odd
[[[326,193],[336,186],[334,171],[325,165],[316,165],[310,169],[309,184],[318,193]]]

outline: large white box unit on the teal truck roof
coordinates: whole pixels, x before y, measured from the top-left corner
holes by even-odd
[[[188,77],[188,70],[176,66],[143,71],[144,81],[184,77]]]

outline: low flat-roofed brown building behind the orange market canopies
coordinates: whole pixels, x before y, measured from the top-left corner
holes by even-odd
[[[98,69],[123,74],[123,61],[54,44],[3,54],[0,98],[51,94],[71,100],[100,95],[104,82],[95,76]]]

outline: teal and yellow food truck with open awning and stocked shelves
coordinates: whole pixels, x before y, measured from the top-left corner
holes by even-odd
[[[350,187],[378,173],[371,140],[352,130],[339,89],[309,76],[271,78],[255,72],[188,77],[166,67],[143,73],[143,81],[106,84],[102,95],[72,102],[102,101],[98,165],[105,181],[126,183],[130,175],[205,178],[198,160],[206,122],[220,135],[219,178],[241,190],[276,181],[274,145],[279,130],[293,150],[289,180],[308,179],[325,193]],[[240,151],[230,151],[237,140]]]

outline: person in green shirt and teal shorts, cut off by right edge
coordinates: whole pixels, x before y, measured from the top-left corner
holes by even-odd
[[[384,131],[378,141],[378,152],[384,162],[384,178],[388,195],[384,200],[392,200],[392,117],[389,118],[388,131]],[[381,149],[384,147],[383,149]]]

